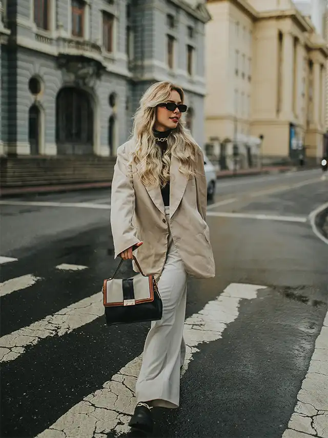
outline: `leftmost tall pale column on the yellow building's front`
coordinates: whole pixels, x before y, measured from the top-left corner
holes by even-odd
[[[282,41],[282,105],[281,115],[291,120],[293,118],[293,56],[294,42],[290,32],[283,34]]]

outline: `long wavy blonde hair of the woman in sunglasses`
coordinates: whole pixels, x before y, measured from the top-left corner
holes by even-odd
[[[139,164],[136,173],[146,186],[162,187],[169,181],[171,156],[179,161],[179,170],[183,175],[187,178],[196,175],[198,145],[181,119],[168,137],[168,147],[163,156],[155,141],[153,129],[156,107],[160,103],[168,102],[174,90],[179,93],[183,103],[185,93],[181,87],[167,81],[152,85],[142,96],[134,116],[132,138],[135,140],[136,149],[132,155],[132,163]]]

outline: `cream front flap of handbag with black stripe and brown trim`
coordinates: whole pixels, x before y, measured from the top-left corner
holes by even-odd
[[[152,301],[154,299],[154,288],[153,288],[153,276],[144,277],[141,274],[137,274],[128,280],[119,280],[113,278],[112,280],[104,281],[104,306],[124,306],[129,305],[124,301],[124,284],[128,284],[132,287],[134,300],[129,297],[130,304],[138,304],[141,302]],[[127,301],[127,300],[126,300]],[[132,302],[134,301],[134,302]]]

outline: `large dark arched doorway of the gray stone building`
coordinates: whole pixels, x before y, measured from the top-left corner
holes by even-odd
[[[93,153],[93,110],[90,94],[78,88],[63,88],[56,100],[58,154]]]

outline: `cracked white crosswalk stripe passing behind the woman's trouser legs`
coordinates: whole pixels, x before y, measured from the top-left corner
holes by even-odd
[[[210,301],[198,313],[185,322],[186,372],[192,356],[199,351],[203,342],[222,337],[223,331],[239,313],[242,299],[255,299],[259,289],[265,286],[254,284],[230,284],[215,300]],[[61,416],[49,429],[37,435],[38,438],[91,438],[105,436],[111,431],[117,435],[129,430],[128,422],[133,413],[136,399],[134,388],[141,365],[141,355],[121,368],[103,388],[83,398]]]

